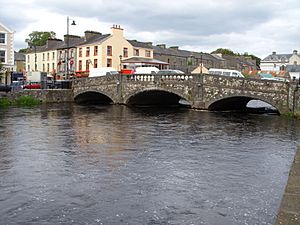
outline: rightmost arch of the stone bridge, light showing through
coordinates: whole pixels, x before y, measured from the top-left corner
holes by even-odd
[[[209,111],[245,111],[247,110],[247,104],[251,100],[259,100],[267,103],[276,109],[274,111],[277,111],[279,114],[281,113],[281,108],[271,99],[245,95],[220,97],[218,99],[210,101],[208,103],[207,109]]]

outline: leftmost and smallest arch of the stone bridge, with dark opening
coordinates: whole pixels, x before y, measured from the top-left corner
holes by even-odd
[[[114,100],[109,95],[98,90],[84,90],[74,95],[77,104],[112,104]]]

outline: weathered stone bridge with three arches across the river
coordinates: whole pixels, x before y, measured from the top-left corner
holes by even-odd
[[[77,79],[78,103],[172,105],[183,99],[192,108],[243,110],[250,100],[261,100],[279,113],[300,111],[300,90],[295,82],[244,79],[208,74],[115,75]]]

